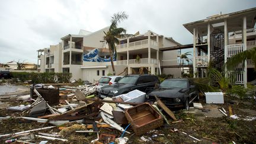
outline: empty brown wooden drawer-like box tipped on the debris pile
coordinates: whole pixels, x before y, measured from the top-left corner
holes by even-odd
[[[131,107],[124,114],[136,135],[142,135],[164,123],[164,119],[149,103]]]

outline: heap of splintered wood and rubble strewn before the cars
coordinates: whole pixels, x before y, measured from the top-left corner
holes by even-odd
[[[53,91],[57,91],[57,96],[50,94]],[[177,133],[180,132],[194,142],[206,142],[204,140],[208,137],[202,136],[198,139],[196,137],[200,137],[199,135],[192,134],[196,129],[188,132],[176,126],[187,123],[196,124],[194,117],[183,117],[181,113],[196,116],[199,113],[197,108],[205,113],[212,110],[206,107],[205,102],[200,101],[200,103],[194,103],[195,111],[173,113],[162,102],[164,100],[157,97],[155,104],[145,103],[145,92],[138,90],[102,100],[95,97],[93,84],[80,87],[37,85],[33,89],[33,96],[18,95],[15,100],[19,101],[17,105],[9,105],[6,108],[12,115],[1,115],[0,123],[12,119],[23,124],[37,123],[39,126],[27,127],[18,132],[1,132],[0,138],[4,139],[3,142],[49,143],[57,140],[68,143],[136,143],[133,137],[137,137],[139,142],[164,143],[161,139],[178,135]],[[216,107],[219,114],[228,116],[229,113],[231,117],[226,119],[244,121],[256,119],[255,116],[245,114],[244,116],[233,115],[230,106],[217,105]],[[36,139],[32,139],[30,135]]]

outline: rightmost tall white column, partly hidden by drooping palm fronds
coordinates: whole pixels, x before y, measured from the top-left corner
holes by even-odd
[[[242,39],[244,43],[244,50],[247,50],[247,17],[244,17]],[[247,88],[247,60],[244,63],[244,87]]]

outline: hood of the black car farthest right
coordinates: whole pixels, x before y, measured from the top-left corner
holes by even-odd
[[[149,93],[149,96],[156,95],[163,98],[181,98],[185,95],[187,89],[182,88],[158,88]]]

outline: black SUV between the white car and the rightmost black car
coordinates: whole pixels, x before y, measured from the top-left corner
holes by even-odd
[[[149,92],[155,87],[156,83],[159,84],[160,82],[155,75],[127,75],[121,78],[116,84],[101,87],[99,97],[115,97],[135,89]]]

